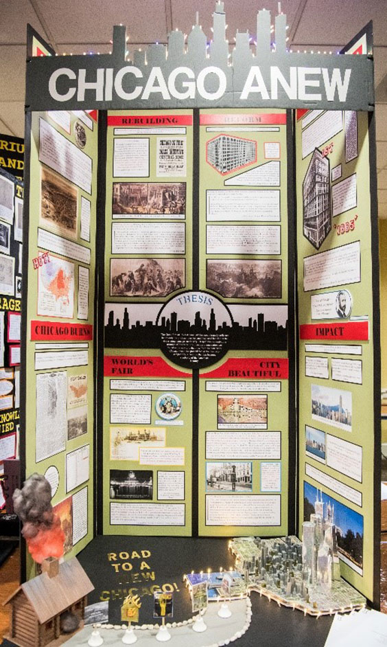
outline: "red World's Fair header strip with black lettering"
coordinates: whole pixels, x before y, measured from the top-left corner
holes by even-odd
[[[105,377],[188,377],[191,373],[183,373],[170,366],[162,357],[128,357],[126,355],[106,355],[104,357]]]

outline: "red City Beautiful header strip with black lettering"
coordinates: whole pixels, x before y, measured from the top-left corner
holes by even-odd
[[[200,377],[287,380],[289,360],[282,357],[256,357],[255,359],[233,357],[209,373],[200,373]]]

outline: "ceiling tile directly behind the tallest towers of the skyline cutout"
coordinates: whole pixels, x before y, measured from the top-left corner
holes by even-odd
[[[264,2],[257,3],[256,0],[243,0],[238,3],[235,0],[225,0],[224,11],[226,13],[226,24],[228,29],[226,31],[226,38],[230,43],[234,42],[237,30],[239,32],[248,31],[252,36],[257,34],[257,12],[262,8],[262,5],[272,13],[272,24],[274,24],[274,17],[278,13],[277,0],[265,0]],[[296,14],[298,0],[283,0],[281,8],[288,19],[288,25],[291,25],[292,19]],[[195,23],[196,11],[199,12],[199,24],[202,25],[202,30],[210,41],[212,37],[211,27],[213,25],[213,11],[215,9],[215,0],[196,0],[191,6],[182,0],[172,0],[172,28],[176,27],[189,34],[193,23]]]

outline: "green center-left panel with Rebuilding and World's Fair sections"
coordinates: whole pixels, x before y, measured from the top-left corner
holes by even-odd
[[[192,123],[107,115],[104,534],[191,534],[191,371],[165,359],[156,322],[192,287]]]

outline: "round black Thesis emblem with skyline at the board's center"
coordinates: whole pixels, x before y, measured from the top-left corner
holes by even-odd
[[[187,291],[161,308],[156,326],[168,359],[186,368],[204,368],[227,352],[233,317],[214,295]]]

